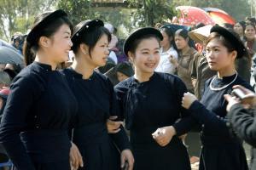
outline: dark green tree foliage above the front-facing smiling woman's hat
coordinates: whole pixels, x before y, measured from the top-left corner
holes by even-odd
[[[154,26],[164,20],[172,19],[175,10],[166,0],[128,0],[130,8],[137,10],[132,13],[135,25]]]

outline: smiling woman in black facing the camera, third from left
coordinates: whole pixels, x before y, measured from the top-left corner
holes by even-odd
[[[162,39],[160,31],[151,27],[131,33],[124,51],[135,75],[115,86],[125,127],[130,130],[136,170],[190,169],[186,147],[177,138],[194,123],[181,107],[187,89],[178,77],[154,72]]]

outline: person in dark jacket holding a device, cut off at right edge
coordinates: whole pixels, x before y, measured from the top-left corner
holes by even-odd
[[[250,169],[253,170],[256,169],[256,95],[253,91],[240,85],[234,86],[233,88],[241,89],[241,92],[247,97],[239,99],[230,94],[224,95],[224,98],[229,102],[227,105],[228,121],[230,122],[230,127],[236,132],[236,135],[252,146]]]

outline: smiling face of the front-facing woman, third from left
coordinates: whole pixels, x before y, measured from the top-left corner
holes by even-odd
[[[137,73],[153,73],[160,60],[160,42],[155,37],[145,38],[138,43],[134,54],[128,54]]]

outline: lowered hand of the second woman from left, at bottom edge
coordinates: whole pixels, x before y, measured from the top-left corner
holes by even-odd
[[[125,162],[127,162],[128,165],[125,165]],[[132,170],[133,164],[134,164],[134,157],[132,156],[131,150],[123,150],[121,152],[121,169]]]

